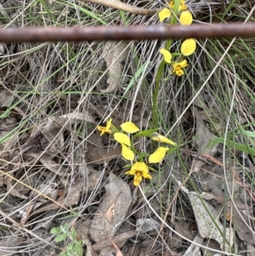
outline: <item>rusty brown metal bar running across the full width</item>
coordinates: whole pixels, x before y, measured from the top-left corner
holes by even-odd
[[[191,26],[83,26],[0,28],[0,42],[82,42],[167,38],[255,37],[254,23]]]

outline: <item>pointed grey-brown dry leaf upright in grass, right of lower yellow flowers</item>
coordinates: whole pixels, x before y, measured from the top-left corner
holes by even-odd
[[[216,139],[217,137],[212,134],[207,127],[204,125],[203,119],[197,108],[194,108],[195,120],[196,120],[196,131],[195,131],[195,143],[197,145],[198,154],[207,153],[209,156],[214,156],[217,153],[218,145],[213,145],[211,148],[207,148],[208,142],[211,139]],[[193,172],[197,173],[206,164],[201,160],[195,159],[192,162]]]

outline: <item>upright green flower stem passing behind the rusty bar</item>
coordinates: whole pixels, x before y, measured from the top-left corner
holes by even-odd
[[[170,20],[170,26],[174,25],[177,23],[177,14],[178,14],[178,6],[179,6],[179,2],[180,0],[175,0],[174,1],[174,8],[173,8],[173,16]],[[167,40],[167,44],[166,44],[166,48],[169,49],[171,48],[173,43],[172,39],[168,39]],[[160,65],[158,66],[157,72],[156,72],[156,85],[155,85],[155,91],[154,94],[152,96],[152,122],[153,122],[153,126],[154,128],[157,127],[158,125],[158,115],[157,115],[157,96],[158,96],[158,92],[159,92],[159,86],[160,86],[160,82],[161,82],[161,77],[162,74],[164,72],[164,67],[166,65],[166,61],[165,60],[161,60]]]

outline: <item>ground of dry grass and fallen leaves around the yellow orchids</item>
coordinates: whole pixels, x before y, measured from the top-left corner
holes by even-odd
[[[0,3],[2,26],[160,24],[77,0]],[[206,23],[253,21],[254,4],[187,1]],[[0,44],[0,255],[255,255],[254,39],[221,60],[229,42],[198,41],[182,77],[166,68],[156,127],[164,41]],[[121,146],[99,135],[110,117],[177,143],[139,187]]]

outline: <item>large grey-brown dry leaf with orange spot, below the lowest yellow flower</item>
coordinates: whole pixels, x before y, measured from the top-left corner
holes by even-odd
[[[116,230],[122,225],[131,203],[131,191],[126,182],[115,174],[110,174],[108,181],[108,184],[105,185],[105,197],[94,213],[94,220],[90,227],[90,236],[94,242],[99,242],[107,236],[116,234]],[[112,208],[115,200],[115,215],[110,223],[105,214],[109,208]]]

